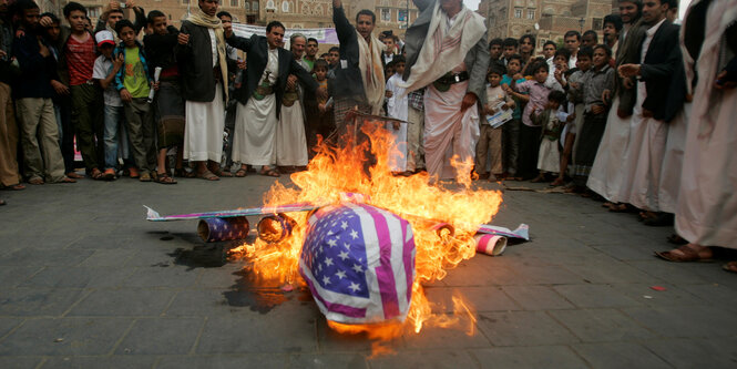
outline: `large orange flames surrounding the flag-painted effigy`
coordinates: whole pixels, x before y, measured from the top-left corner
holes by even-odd
[[[468,316],[471,322],[468,332],[472,335],[475,318],[468,303],[455,296],[453,316],[432,314],[431,303],[422,285],[442,279],[448,269],[474,256],[475,225],[491,222],[499,211],[502,196],[495,191],[472,188],[468,175],[457,178],[460,185],[454,191],[430,184],[434,181],[427,174],[393,176],[389,168],[391,135],[382,126],[383,122],[365,122],[361,126],[361,132],[370,139],[370,152],[376,157],[368,174],[364,170],[368,161],[368,142],[354,144],[354,137],[344,137],[348,144],[341,145],[341,148],[323,143],[308,171],[291,175],[291,181],[299,188],[289,188],[277,182],[265,194],[264,206],[301,202],[337,203],[341,201],[341,194],[355,193],[362,194],[367,204],[398,214],[412,225],[417,248],[416,279],[407,320],[403,324],[386,325],[342,325],[329,321],[332,329],[340,332],[365,331],[369,338],[385,339],[406,330],[419,332],[423,325],[458,324],[459,316]],[[459,173],[469,173],[472,164],[457,162],[454,166]],[[289,216],[297,225],[307,224],[306,213],[290,213]],[[439,227],[438,224],[446,226]],[[291,236],[278,244],[258,238],[254,244],[233,249],[231,255],[252,262],[249,273],[255,274],[258,281],[304,285],[298,263],[305,228],[296,226]]]

